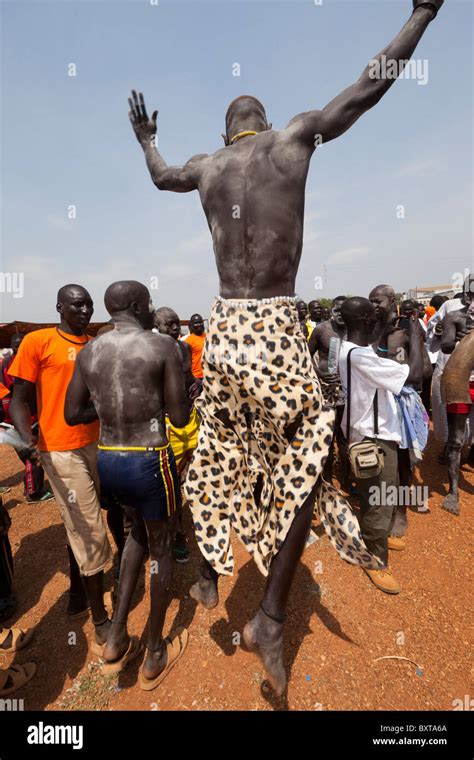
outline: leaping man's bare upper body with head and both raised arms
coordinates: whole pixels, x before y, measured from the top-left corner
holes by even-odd
[[[415,0],[411,18],[378,58],[403,68],[442,2]],[[369,64],[324,109],[295,116],[281,131],[271,129],[260,101],[237,98],[226,115],[226,147],[211,156],[196,155],[184,166],[168,166],[158,153],[158,112],[149,118],[142,93],[132,91],[129,117],[154,184],[160,190],[199,191],[222,297],[294,295],[311,156],[317,145],[346,132],[395,81],[374,78],[372,68]]]

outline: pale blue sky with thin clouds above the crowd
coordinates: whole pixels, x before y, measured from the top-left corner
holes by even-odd
[[[24,296],[0,294],[0,320],[54,320],[71,281],[102,319],[105,288],[125,278],[157,278],[157,305],[207,316],[218,282],[198,194],[151,183],[130,89],[160,110],[160,151],[181,164],[222,146],[237,95],[260,98],[275,128],[324,107],[410,12],[411,0],[3,0],[0,263],[24,273]],[[414,55],[428,83],[395,83],[316,151],[303,298],[444,284],[472,267],[472,51],[472,3],[448,0]]]

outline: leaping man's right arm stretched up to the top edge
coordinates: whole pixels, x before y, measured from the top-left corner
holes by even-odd
[[[322,111],[308,111],[295,116],[287,130],[313,145],[317,145],[318,140],[326,143],[344,134],[362,114],[379,102],[395,82],[395,78],[377,76],[383,72],[382,61],[397,62],[400,75],[443,2],[433,0],[420,4],[419,0],[414,0],[413,14],[401,32],[369,62],[357,82],[343,90]]]

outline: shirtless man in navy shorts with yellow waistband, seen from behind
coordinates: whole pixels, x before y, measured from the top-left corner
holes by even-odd
[[[166,437],[165,410],[173,424],[188,418],[183,369],[176,342],[152,332],[154,309],[148,289],[122,281],[105,292],[114,329],[81,352],[68,388],[65,417],[81,422],[93,404],[100,420],[98,467],[102,486],[123,504],[133,526],[123,550],[117,604],[107,621],[106,645],[97,648],[104,674],[120,672],[140,652],[129,637],[127,618],[138,575],[150,552],[150,625],[140,686],[154,689],[187,644],[187,630],[163,639],[173,568],[173,518],[180,490],[173,451]]]

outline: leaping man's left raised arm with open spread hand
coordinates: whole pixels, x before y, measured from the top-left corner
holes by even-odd
[[[146,165],[159,190],[173,190],[175,193],[189,193],[198,189],[198,167],[204,155],[193,156],[184,166],[168,166],[156,149],[156,119],[158,111],[149,118],[143,94],[132,90],[128,99],[128,116],[136,138],[143,148]]]

